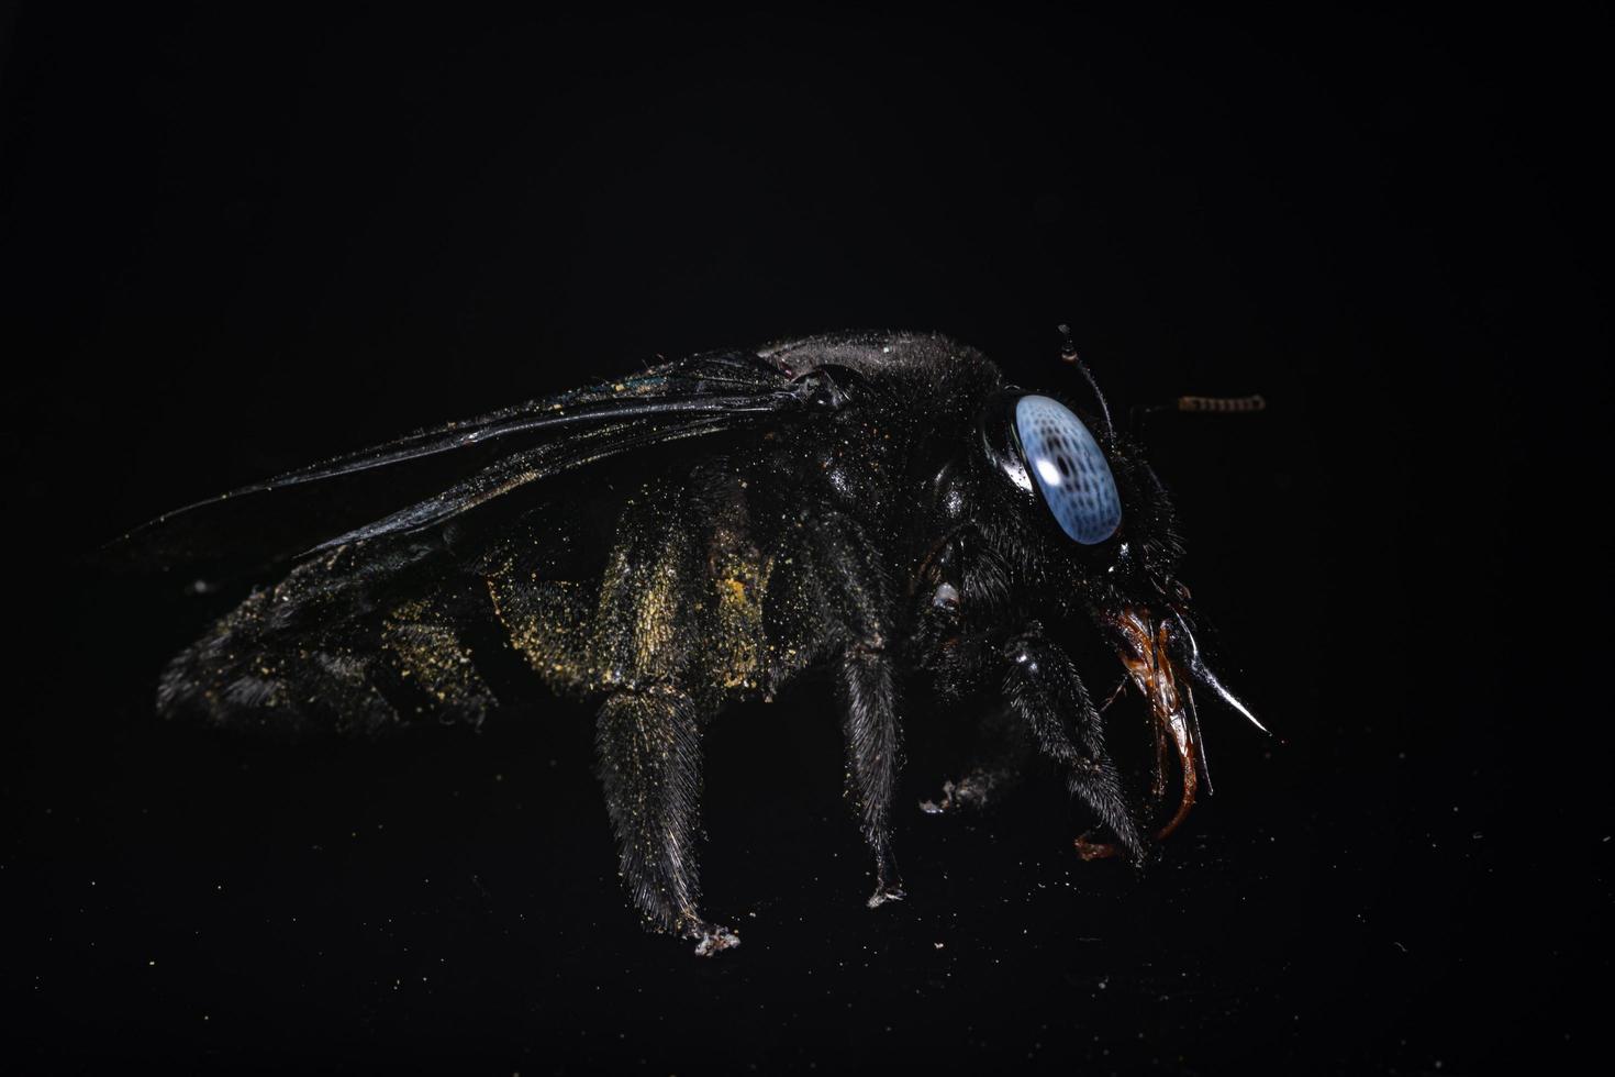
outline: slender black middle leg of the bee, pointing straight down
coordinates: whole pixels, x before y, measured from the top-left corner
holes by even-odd
[[[875,891],[869,896],[875,909],[904,896],[890,822],[901,751],[896,677],[885,651],[891,604],[875,551],[854,522],[828,513],[814,533],[819,593],[840,636],[832,680],[858,823],[875,856]]]

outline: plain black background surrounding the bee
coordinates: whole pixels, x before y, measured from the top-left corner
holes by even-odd
[[[21,1071],[1474,1072],[1600,1041],[1605,26],[11,15]],[[694,961],[620,896],[586,709],[380,744],[160,723],[207,604],[78,560],[656,355],[929,328],[1063,388],[1058,321],[1113,400],[1271,404],[1151,439],[1279,736],[1208,715],[1218,793],[1143,878],[1076,861],[1055,788],[921,815],[950,725],[909,714],[911,898],[866,911],[804,683],[707,741],[706,904],[745,945]]]

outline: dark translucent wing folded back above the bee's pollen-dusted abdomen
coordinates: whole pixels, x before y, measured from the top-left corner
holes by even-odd
[[[822,375],[791,379],[746,352],[712,352],[531,400],[165,513],[103,554],[197,575],[401,534],[530,483],[651,446],[840,407]]]

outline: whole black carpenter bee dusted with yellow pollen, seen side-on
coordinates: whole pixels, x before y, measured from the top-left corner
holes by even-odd
[[[628,895],[698,954],[740,941],[699,906],[701,736],[811,667],[846,738],[870,907],[903,898],[890,825],[911,677],[954,699],[992,689],[982,727],[1001,738],[922,807],[979,807],[1042,754],[1095,817],[1077,853],[1142,864],[1206,782],[1193,688],[1255,719],[1197,643],[1168,494],[1066,341],[1082,405],[940,334],[814,336],[160,517],[121,549],[279,578],[171,660],[158,710],[371,733],[480,723],[518,680],[589,699]],[[1148,704],[1148,807],[1124,793],[1074,647],[1119,659],[1118,689]]]

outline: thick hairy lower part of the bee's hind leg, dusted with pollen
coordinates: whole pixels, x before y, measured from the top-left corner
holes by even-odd
[[[740,935],[696,911],[701,735],[696,706],[670,685],[623,689],[601,706],[594,735],[622,880],[640,912],[711,956]]]

